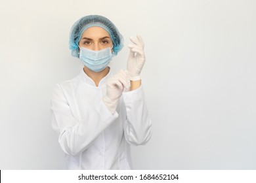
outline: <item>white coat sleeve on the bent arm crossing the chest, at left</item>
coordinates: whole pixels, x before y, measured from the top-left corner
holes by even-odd
[[[51,97],[52,126],[58,133],[58,142],[66,154],[75,156],[87,149],[106,127],[116,120],[101,101],[81,121],[74,118],[70,105],[59,84]]]

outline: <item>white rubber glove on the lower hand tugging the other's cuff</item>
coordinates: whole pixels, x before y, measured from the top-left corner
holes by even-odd
[[[103,101],[111,114],[115,113],[119,98],[121,97],[124,88],[129,88],[129,82],[125,71],[121,70],[116,75],[108,78],[106,95],[103,97]]]

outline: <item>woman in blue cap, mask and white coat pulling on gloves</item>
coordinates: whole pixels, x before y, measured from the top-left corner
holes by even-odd
[[[116,26],[90,15],[72,27],[70,50],[84,67],[56,84],[51,97],[52,125],[68,169],[131,169],[130,145],[151,137],[140,79],[144,43],[140,36],[131,42],[127,70],[112,75],[108,63],[123,47]]]

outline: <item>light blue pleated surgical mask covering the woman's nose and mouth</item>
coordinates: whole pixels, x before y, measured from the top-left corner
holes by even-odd
[[[108,66],[112,59],[111,48],[104,48],[102,50],[89,50],[87,48],[80,48],[79,59],[83,61],[83,64],[98,73]]]

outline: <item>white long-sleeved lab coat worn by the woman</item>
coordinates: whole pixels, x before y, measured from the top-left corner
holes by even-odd
[[[102,102],[110,75],[96,87],[82,70],[54,88],[52,125],[68,169],[131,169],[130,144],[146,144],[151,137],[142,86],[123,92],[113,115]]]

